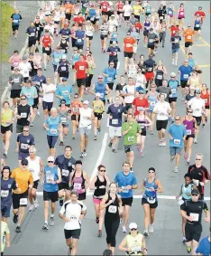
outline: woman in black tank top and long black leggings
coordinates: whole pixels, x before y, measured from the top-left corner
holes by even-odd
[[[119,228],[120,216],[123,214],[122,199],[117,194],[117,185],[112,182],[109,192],[100,203],[100,210],[105,209],[105,232],[108,249],[115,255],[115,235]]]

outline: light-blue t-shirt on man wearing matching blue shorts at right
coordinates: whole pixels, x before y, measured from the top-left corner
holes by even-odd
[[[179,126],[171,124],[169,133],[173,137],[173,139],[170,139],[170,147],[184,147],[183,137],[187,135],[187,131],[183,124]]]

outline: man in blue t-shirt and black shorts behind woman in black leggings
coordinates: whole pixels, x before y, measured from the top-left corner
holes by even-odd
[[[118,194],[122,197],[124,206],[123,232],[126,232],[126,224],[129,219],[130,208],[133,203],[133,189],[138,187],[136,177],[130,173],[131,164],[124,162],[123,171],[115,175],[115,182],[118,185]]]

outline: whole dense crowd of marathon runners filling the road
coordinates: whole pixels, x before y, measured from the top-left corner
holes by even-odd
[[[39,207],[36,194],[39,185],[43,187],[42,230],[47,232],[54,225],[59,201],[69,255],[78,251],[81,225],[88,211],[87,191],[93,193],[99,238],[105,225],[108,250],[104,255],[115,255],[115,236],[120,225],[125,238],[117,250],[128,255],[146,255],[148,250],[150,253],[145,238],[154,232],[162,181],[156,176],[156,166],[147,166],[145,179],[138,180],[133,163],[135,157],[145,156],[144,147],[148,147],[145,138],[155,132],[154,146],[170,145],[170,163],[174,164],[175,173],[180,170],[182,155],[187,161],[187,174],[184,173],[184,183],[179,184],[176,197],[182,217],[182,242],[192,255],[210,254],[210,237],[198,245],[202,223],[209,223],[204,194],[210,176],[201,153],[195,156],[195,163],[191,160],[192,147],[200,143],[198,134],[207,125],[210,106],[209,86],[203,81],[203,72],[192,51],[206,18],[202,7],[192,14],[192,23],[187,24],[185,17],[189,10],[183,2],[179,8],[172,1],[156,1],[156,8],[151,1],[38,2],[43,6],[26,27],[27,52],[21,56],[15,50],[8,60],[11,100],[3,102],[1,111],[2,255],[5,246],[10,246],[9,228],[13,226],[8,228],[7,218],[12,204],[15,232],[22,232],[27,205],[30,212]],[[14,37],[18,37],[19,26],[25,25],[24,14],[15,10],[8,22],[12,24]],[[122,30],[123,42],[118,34]],[[100,45],[96,45],[96,37],[100,37]],[[166,46],[168,40],[171,49]],[[185,57],[180,49],[183,43]],[[96,56],[92,50],[99,47],[102,59],[98,64],[102,72],[96,73]],[[148,49],[145,56],[143,48]],[[169,73],[169,67],[156,56],[161,48],[171,52],[173,72]],[[121,55],[124,55],[123,73],[119,71]],[[183,62],[179,62],[179,57]],[[46,76],[46,71],[51,75]],[[74,93],[76,88],[78,91]],[[93,99],[91,102],[87,100],[88,94]],[[178,100],[185,115],[177,111]],[[41,129],[46,131],[49,150],[47,159],[37,155],[40,141],[34,136],[37,131],[33,128],[42,117]],[[113,177],[108,176],[102,164],[91,178],[84,171],[83,160],[91,154],[91,149],[87,152],[89,140],[100,138],[101,122],[105,118],[111,154],[118,159],[119,139],[124,137],[125,161],[118,159],[124,162],[123,169]],[[15,146],[11,144],[13,132]],[[72,140],[78,140],[80,155],[77,157],[75,149],[69,146]],[[95,142],[91,143],[93,146]],[[58,147],[64,147],[64,153],[59,156]],[[12,150],[18,155],[14,169],[7,162]],[[129,223],[133,190],[142,194],[142,232],[139,224]]]

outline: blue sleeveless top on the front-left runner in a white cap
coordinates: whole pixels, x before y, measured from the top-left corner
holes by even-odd
[[[55,192],[59,190],[58,184],[51,184],[52,181],[57,181],[59,179],[58,176],[58,166],[44,166],[44,183],[43,183],[43,191],[46,192]]]

